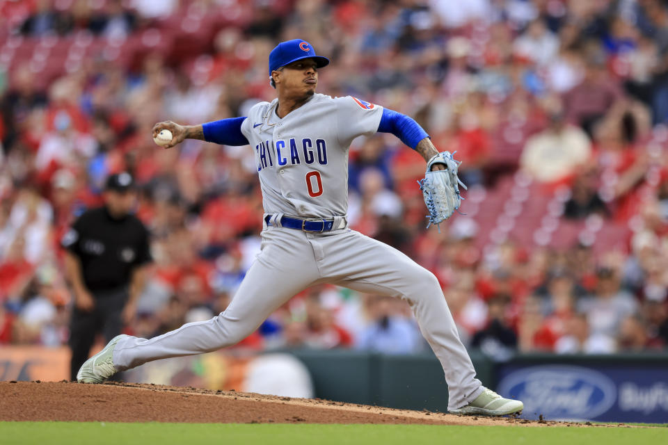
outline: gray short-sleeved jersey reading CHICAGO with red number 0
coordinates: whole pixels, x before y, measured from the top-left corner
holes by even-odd
[[[348,148],[378,130],[383,107],[315,94],[286,115],[278,99],[250,108],[241,132],[255,151],[264,211],[303,218],[345,216]]]

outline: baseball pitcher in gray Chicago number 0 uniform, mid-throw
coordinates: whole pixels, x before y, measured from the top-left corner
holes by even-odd
[[[120,335],[81,366],[79,382],[99,383],[152,360],[234,345],[296,293],[331,283],[408,302],[443,365],[450,412],[503,415],[523,409],[522,402],[502,398],[475,378],[436,277],[347,224],[348,149],[354,138],[392,133],[424,157],[427,174],[420,188],[434,224],[459,207],[459,163],[439,153],[406,115],[356,97],[318,94],[318,70],[328,63],[304,40],[281,42],[269,55],[270,83],[278,93],[272,102],[256,104],[242,118],[155,125],[154,138],[164,130],[172,134],[167,148],[186,138],[250,145],[265,212],[262,250],[224,312],[152,339]]]

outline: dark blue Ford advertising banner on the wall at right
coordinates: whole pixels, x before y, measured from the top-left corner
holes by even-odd
[[[522,417],[668,422],[668,370],[546,364],[500,366],[498,393],[518,398]]]

